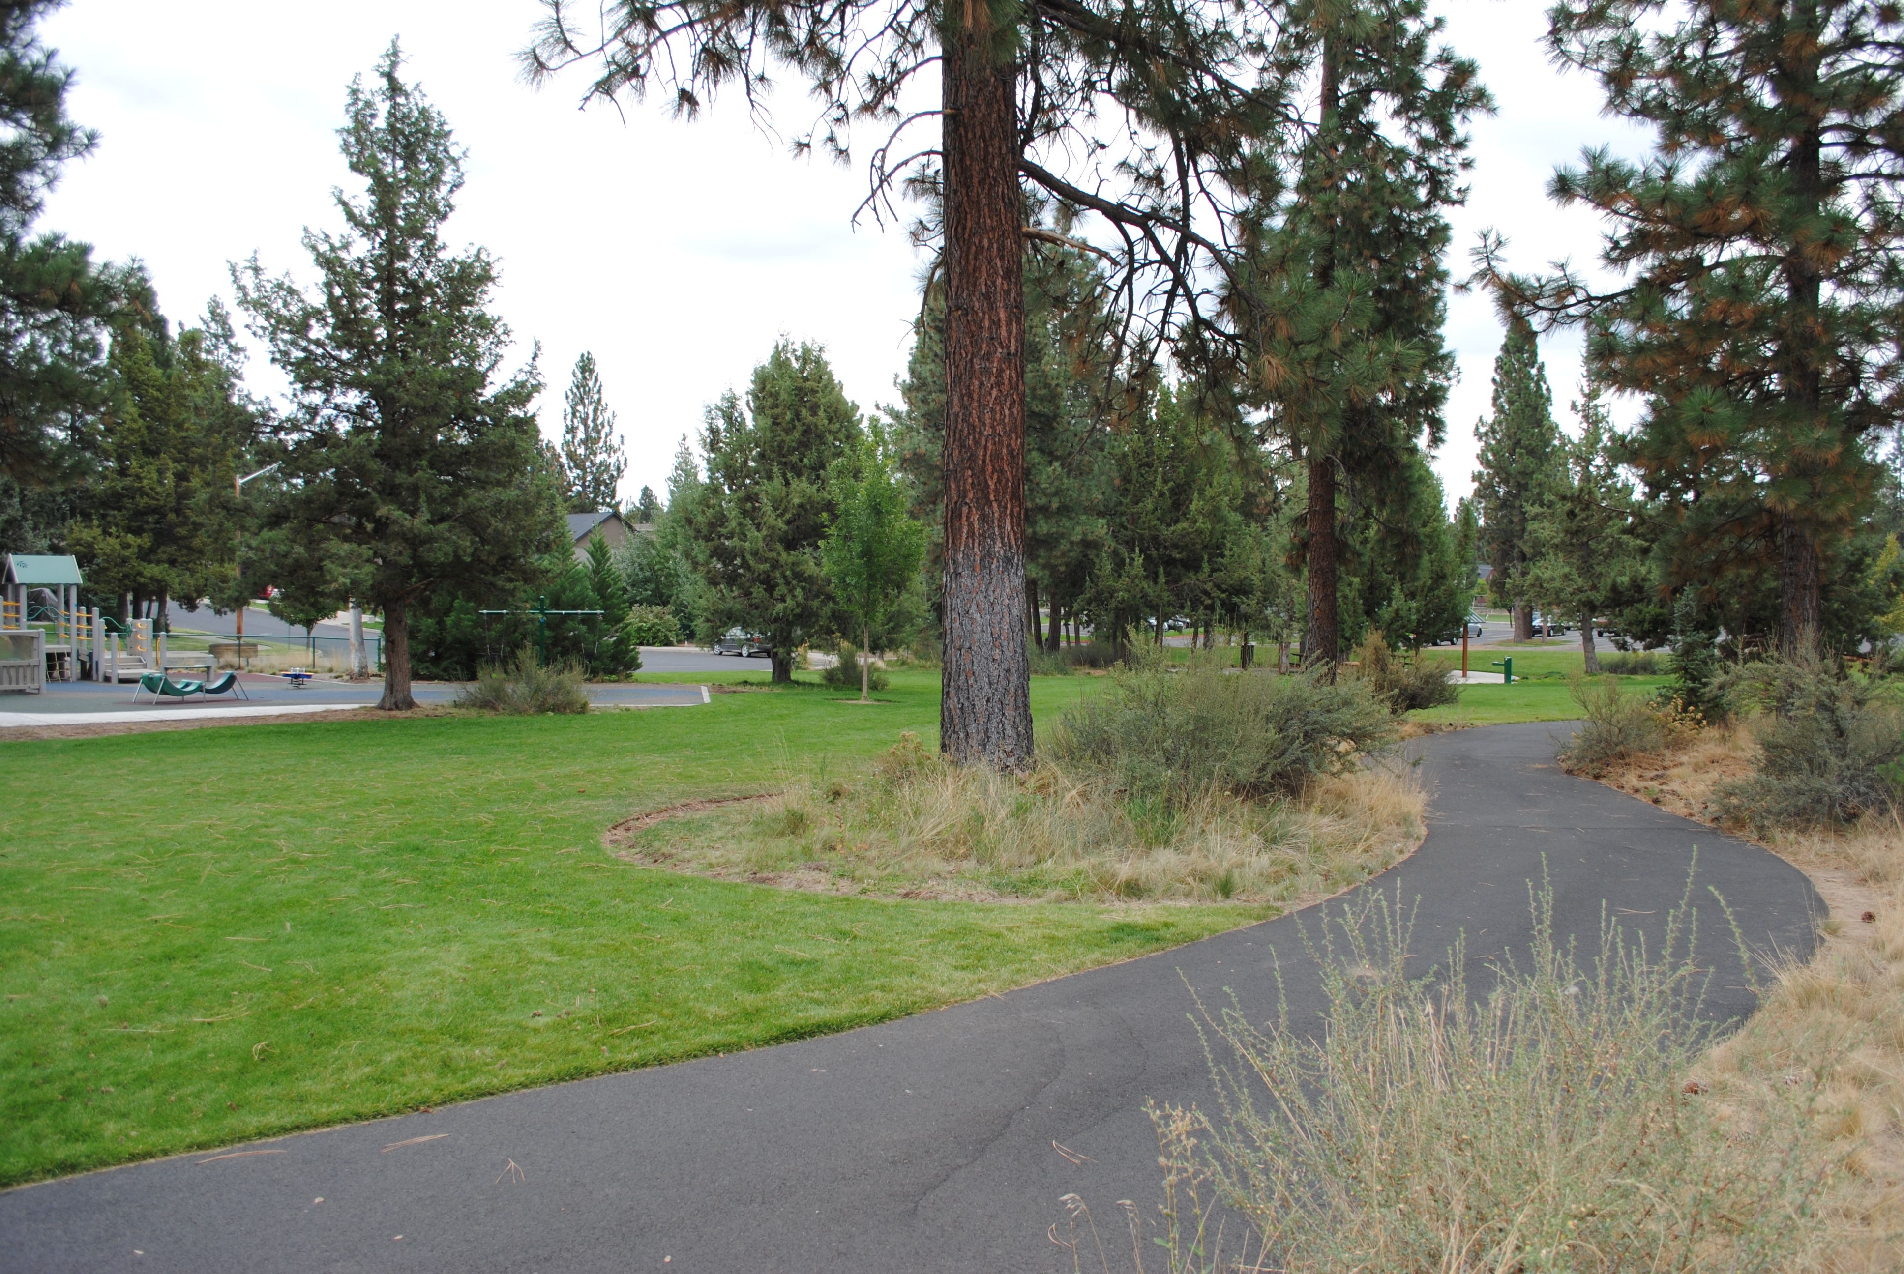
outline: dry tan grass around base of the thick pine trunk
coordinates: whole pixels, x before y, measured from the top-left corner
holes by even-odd
[[[1424,804],[1401,766],[1327,775],[1289,800],[1133,800],[1055,762],[1024,775],[950,766],[908,733],[870,775],[670,819],[621,853],[845,893],[1293,906],[1401,859]]]

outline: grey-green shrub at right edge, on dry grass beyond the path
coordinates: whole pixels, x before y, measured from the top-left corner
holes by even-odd
[[[1883,686],[1805,655],[1748,665],[1731,686],[1755,712],[1750,779],[1719,813],[1755,830],[1843,826],[1898,804],[1904,714]]]

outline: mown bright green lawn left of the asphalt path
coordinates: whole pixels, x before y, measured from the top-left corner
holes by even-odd
[[[1034,708],[1091,682],[1036,678]],[[935,741],[935,674],[882,697],[0,743],[0,1183],[840,1030],[1266,914],[838,899],[604,851],[628,815]]]

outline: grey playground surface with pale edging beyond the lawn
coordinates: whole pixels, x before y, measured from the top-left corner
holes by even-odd
[[[149,693],[139,693],[133,701],[135,687],[131,684],[48,682],[38,695],[0,695],[0,729],[341,712],[375,707],[383,695],[381,680],[312,678],[303,687],[263,672],[246,672],[240,680],[249,697],[192,695],[190,699],[162,699],[158,703]],[[417,682],[411,693],[417,703],[447,705],[461,689],[453,682]],[[701,686],[604,684],[586,689],[588,703],[596,708],[674,708],[706,703],[706,691]]]

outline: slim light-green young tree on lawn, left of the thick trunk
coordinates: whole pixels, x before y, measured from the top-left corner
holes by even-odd
[[[920,579],[925,528],[906,516],[906,491],[883,438],[868,438],[834,480],[834,516],[823,558],[840,613],[859,632],[859,701],[866,703],[872,642]]]

